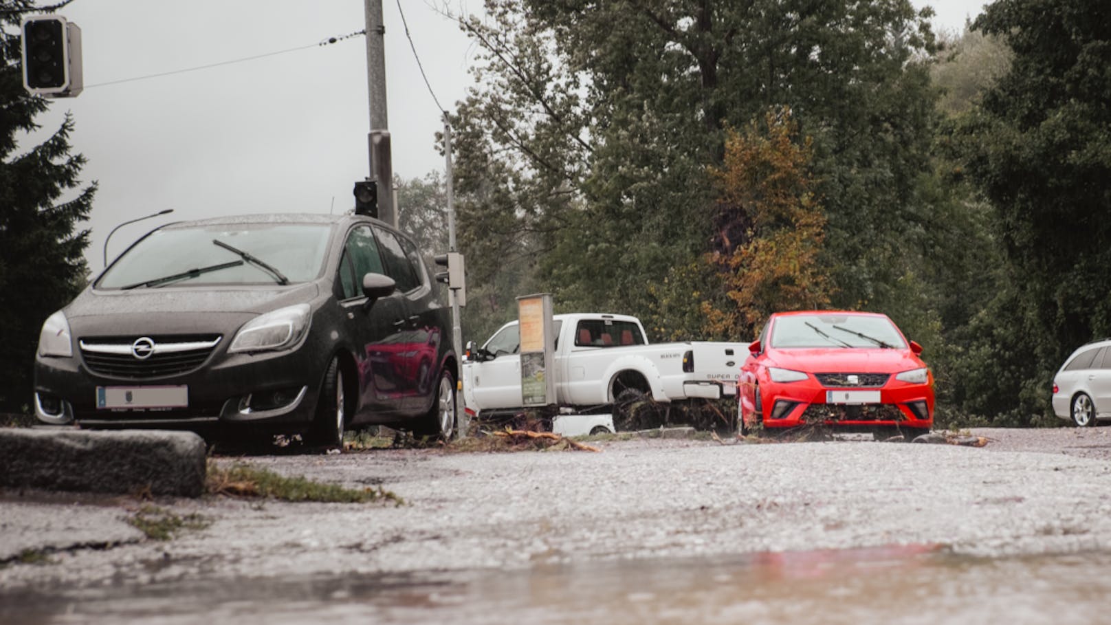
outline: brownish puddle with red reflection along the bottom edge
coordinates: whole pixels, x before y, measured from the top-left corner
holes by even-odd
[[[0,623],[1101,623],[1111,554],[980,559],[928,546],[406,575],[0,591]]]

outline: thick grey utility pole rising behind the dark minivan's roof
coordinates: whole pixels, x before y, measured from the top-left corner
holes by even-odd
[[[378,181],[378,218],[394,227],[398,211],[393,205],[393,162],[390,157],[390,131],[386,113],[386,24],[382,0],[364,0],[367,16],[367,90],[370,96],[370,179]]]

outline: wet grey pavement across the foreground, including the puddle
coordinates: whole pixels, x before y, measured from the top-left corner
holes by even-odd
[[[0,624],[1102,623],[1111,428],[252,456],[404,506],[0,493]],[[31,553],[30,563],[11,554]]]

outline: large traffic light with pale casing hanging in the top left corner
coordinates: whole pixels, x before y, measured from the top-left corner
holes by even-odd
[[[81,29],[61,16],[26,18],[20,27],[23,87],[31,93],[81,92]]]

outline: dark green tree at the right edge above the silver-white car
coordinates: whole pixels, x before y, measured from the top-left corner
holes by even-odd
[[[1055,369],[1111,335],[1111,7],[998,0],[974,28],[1014,57],[953,133],[990,202],[1009,281],[968,354],[972,371],[1003,370],[970,384],[969,401],[997,423],[1051,420]]]

